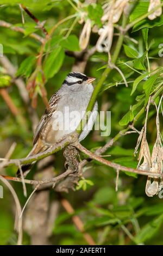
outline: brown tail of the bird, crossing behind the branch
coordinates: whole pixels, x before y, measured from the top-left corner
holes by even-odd
[[[33,149],[29,152],[27,157],[39,154],[39,153],[45,151],[47,148],[48,148],[48,146],[43,144],[41,139],[38,139],[38,141],[34,145]],[[26,177],[26,175],[30,172],[30,170],[32,169],[34,164],[35,164],[35,161],[33,163],[27,163],[27,164],[23,164],[21,166],[24,177]],[[16,176],[21,177],[20,169],[17,170]]]

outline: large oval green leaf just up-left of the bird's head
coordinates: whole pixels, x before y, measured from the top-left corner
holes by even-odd
[[[55,48],[55,50],[49,54],[43,69],[47,79],[53,77],[60,70],[64,57],[65,53],[61,46]]]

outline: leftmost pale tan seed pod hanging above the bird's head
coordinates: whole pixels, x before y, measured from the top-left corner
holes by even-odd
[[[90,34],[91,34],[91,20],[88,19],[84,24],[82,33],[79,38],[79,46],[82,50],[85,50],[85,48],[87,47],[90,40]]]

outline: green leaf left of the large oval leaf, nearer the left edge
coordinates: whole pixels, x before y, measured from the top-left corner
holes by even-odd
[[[29,77],[32,72],[32,68],[35,64],[35,60],[36,60],[35,56],[30,56],[24,59],[20,65],[20,68],[16,72],[16,76]]]

